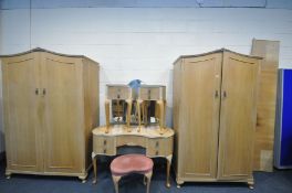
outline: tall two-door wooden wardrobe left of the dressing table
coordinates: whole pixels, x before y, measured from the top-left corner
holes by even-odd
[[[98,126],[98,63],[43,49],[0,56],[7,170],[85,180]]]

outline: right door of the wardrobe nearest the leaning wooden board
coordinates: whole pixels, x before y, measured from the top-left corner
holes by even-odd
[[[225,52],[219,137],[219,180],[252,174],[258,60]]]

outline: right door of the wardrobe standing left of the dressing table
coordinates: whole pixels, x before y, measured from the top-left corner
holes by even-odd
[[[42,53],[42,77],[44,171],[80,172],[85,157],[81,60]]]

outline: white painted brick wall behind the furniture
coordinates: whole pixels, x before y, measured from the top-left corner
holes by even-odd
[[[171,63],[181,54],[220,47],[249,54],[255,39],[281,41],[280,67],[292,68],[292,10],[231,8],[12,9],[0,14],[0,54],[32,47],[84,54],[101,63],[105,84],[139,78],[167,86],[171,125]],[[31,37],[31,39],[30,39]],[[101,124],[104,109],[101,108]]]

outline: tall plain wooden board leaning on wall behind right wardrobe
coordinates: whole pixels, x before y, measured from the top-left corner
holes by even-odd
[[[279,41],[252,40],[251,55],[263,57],[257,105],[253,170],[273,171]]]

